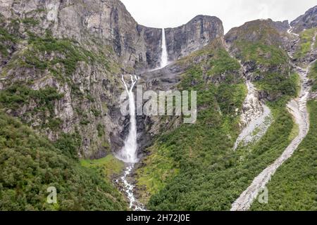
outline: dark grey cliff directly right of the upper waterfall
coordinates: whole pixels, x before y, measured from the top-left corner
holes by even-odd
[[[213,16],[198,15],[189,23],[166,29],[168,59],[177,60],[223,36],[223,23]]]

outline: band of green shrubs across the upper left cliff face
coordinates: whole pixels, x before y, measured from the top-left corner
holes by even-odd
[[[77,41],[56,39],[51,36],[50,32],[46,32],[44,37],[38,37],[32,32],[27,32],[27,34],[29,45],[10,60],[4,68],[4,73],[17,66],[20,69],[33,68],[39,72],[49,70],[51,75],[60,81],[70,82],[70,76],[77,69],[79,62],[99,63],[108,69],[108,60],[101,49],[94,52],[88,51]]]

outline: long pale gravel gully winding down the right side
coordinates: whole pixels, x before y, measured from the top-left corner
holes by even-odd
[[[292,27],[289,30],[290,34],[292,33]],[[294,34],[298,36],[298,34]],[[316,39],[314,39],[316,41]],[[290,58],[292,58],[292,54],[290,54]],[[294,70],[298,72],[301,78],[301,91],[299,94],[299,98],[295,98],[290,103],[287,104],[287,108],[294,117],[295,122],[299,126],[299,134],[292,140],[289,146],[284,150],[282,155],[273,162],[273,164],[269,165],[264,169],[258,176],[254,178],[251,185],[240,195],[237,200],[231,205],[231,211],[244,211],[249,210],[251,204],[254,202],[255,198],[259,195],[259,192],[266,187],[266,184],[271,180],[273,174],[275,174],[276,170],[290,157],[292,157],[294,151],[298,148],[299,144],[302,143],[305,136],[309,132],[309,113],[307,111],[307,101],[309,99],[309,93],[311,90],[311,86],[309,85],[309,68],[316,60],[311,62],[307,69],[300,68],[297,65],[293,65]]]

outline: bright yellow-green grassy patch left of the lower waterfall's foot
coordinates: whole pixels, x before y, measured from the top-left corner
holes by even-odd
[[[113,155],[107,155],[99,160],[80,160],[83,167],[99,169],[106,179],[111,179],[113,175],[118,175],[123,171],[124,163]]]

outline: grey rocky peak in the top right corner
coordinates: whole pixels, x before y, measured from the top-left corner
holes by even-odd
[[[292,32],[300,33],[303,30],[308,30],[312,27],[317,27],[317,6],[310,8],[304,15],[299,16],[292,21],[290,25],[293,27]]]

